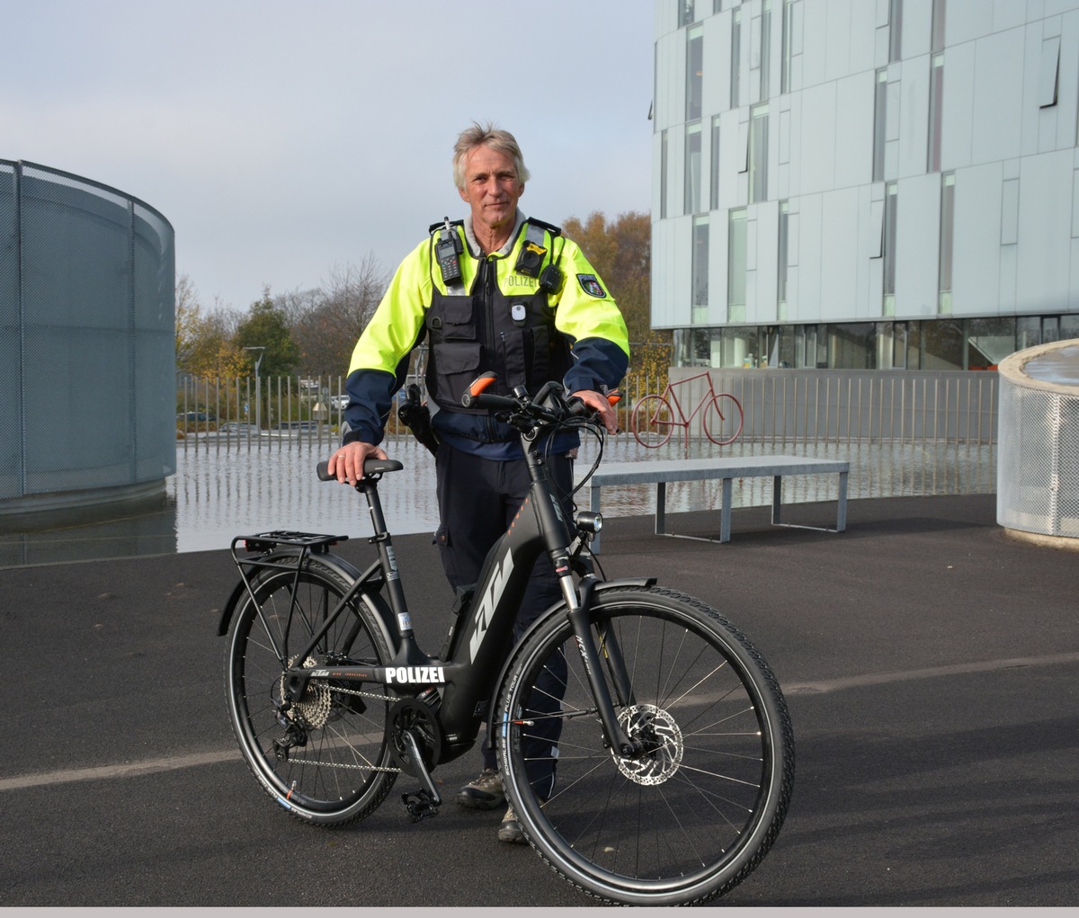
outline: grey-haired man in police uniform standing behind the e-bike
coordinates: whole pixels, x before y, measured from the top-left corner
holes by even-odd
[[[429,335],[426,383],[439,440],[435,540],[456,589],[477,581],[483,559],[522,505],[530,483],[514,431],[488,412],[461,405],[468,384],[488,370],[497,375],[497,388],[488,391],[498,394],[517,385],[535,393],[555,380],[596,409],[615,433],[605,393],[626,372],[629,344],[614,299],[577,245],[517,208],[529,174],[511,134],[473,124],[457,138],[453,176],[469,214],[463,221],[447,218],[433,225],[429,237],[397,269],[353,353],[343,444],[330,457],[329,470],[339,481],[355,484],[366,458],[387,457],[379,443],[394,393],[405,381],[412,350]],[[548,461],[566,502],[576,446],[576,434],[559,435]],[[516,633],[560,598],[550,561],[543,556]],[[551,752],[542,757],[552,763],[557,750]],[[486,742],[483,761],[479,778],[457,794],[463,806],[494,809],[505,803]],[[549,794],[552,764],[546,780]],[[498,837],[524,840],[511,810]]]

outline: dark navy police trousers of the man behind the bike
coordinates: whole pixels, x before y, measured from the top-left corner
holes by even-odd
[[[542,448],[541,448],[542,449]],[[573,517],[570,494],[573,491],[573,460],[565,453],[546,457],[547,470],[561,497],[566,519]],[[509,527],[517,511],[524,504],[532,480],[524,460],[488,460],[473,453],[455,450],[449,443],[438,447],[435,463],[440,524],[435,535],[439,546],[446,577],[454,589],[469,587],[479,579],[480,568],[488,551]],[[562,600],[562,590],[546,552],[536,559],[529,579],[529,587],[521,602],[514,641],[554,603]],[[506,647],[506,655],[511,648]],[[545,671],[537,680],[535,697],[546,699],[535,709],[555,710],[564,693],[566,673],[564,660],[557,656],[561,672]],[[494,704],[496,699],[491,699]],[[530,735],[522,738],[522,750],[529,780],[536,794],[547,799],[555,786],[558,756],[558,738],[561,721],[558,717],[537,720]],[[494,751],[484,736],[481,751],[483,765],[496,768]]]

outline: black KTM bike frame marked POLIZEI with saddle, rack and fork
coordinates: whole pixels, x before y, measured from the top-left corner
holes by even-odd
[[[597,712],[607,741],[613,749],[619,750],[624,755],[641,754],[641,744],[630,740],[615,714],[614,702],[602,675],[600,655],[589,632],[588,611],[597,588],[627,583],[646,585],[652,580],[601,583],[595,576],[588,561],[581,558],[584,536],[573,534],[575,526],[565,519],[546,464],[533,449],[534,443],[524,436],[522,446],[532,484],[509,529],[492,546],[483,562],[472,602],[462,608],[460,619],[451,630],[447,659],[425,655],[419,648],[411,627],[411,616],[400,583],[393,539],[386,530],[378,496],[378,481],[382,474],[402,467],[400,463],[394,461],[370,464],[369,468],[372,470],[369,470],[356,484],[356,490],[367,498],[374,525],[374,536],[371,542],[379,552],[377,562],[360,574],[347,562],[329,553],[329,547],[333,543],[344,540],[347,536],[268,533],[237,537],[233,540],[232,553],[241,571],[242,583],[237,585],[222,614],[219,633],[227,632],[229,620],[245,594],[255,603],[262,618],[263,613],[255,598],[249,572],[244,570],[245,565],[252,570],[274,567],[295,574],[291,603],[296,608],[296,591],[303,562],[310,554],[317,554],[320,562],[336,567],[353,583],[337,606],[328,611],[320,625],[315,627],[315,622],[308,622],[309,630],[313,629],[311,638],[306,646],[299,654],[295,654],[292,659],[306,660],[314,655],[319,642],[337,618],[345,614],[352,603],[360,598],[374,611],[380,620],[387,638],[387,645],[394,649],[394,658],[386,666],[380,667],[325,664],[289,667],[284,649],[278,646],[273,630],[262,618],[268,639],[285,671],[285,699],[302,698],[311,679],[384,685],[401,698],[414,697],[429,687],[437,686],[441,691],[441,703],[436,716],[443,735],[441,755],[438,762],[434,763],[438,765],[469,750],[476,741],[484,716],[491,716],[489,703],[494,689],[503,679],[501,672],[503,660],[510,645],[517,613],[533,565],[540,554],[546,551],[559,577],[563,599],[562,602],[548,608],[540,620],[558,614],[569,617],[585,661]],[[272,550],[258,558],[240,558],[236,546],[244,542],[256,550],[265,550],[270,546],[287,547],[284,551]],[[297,552],[299,562],[295,565],[291,563],[285,565],[281,562],[281,558],[291,559]],[[581,576],[579,586],[575,581],[575,575]],[[382,587],[385,587],[388,602],[380,595]],[[631,703],[631,694],[626,688],[629,680],[614,636],[601,634],[601,640],[603,657],[609,672],[612,673],[618,700],[620,703]],[[492,729],[489,736],[494,743],[497,739],[496,731]],[[428,785],[434,789],[429,782]]]

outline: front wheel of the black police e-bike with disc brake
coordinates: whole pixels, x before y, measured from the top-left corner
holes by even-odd
[[[529,841],[607,902],[700,904],[745,879],[779,833],[794,735],[779,685],[715,609],[659,587],[595,598],[592,639],[619,723],[606,743],[573,630],[548,617],[501,693],[503,782]]]

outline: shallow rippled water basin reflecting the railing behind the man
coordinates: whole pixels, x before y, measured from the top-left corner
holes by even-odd
[[[367,537],[371,534],[367,507],[351,488],[320,482],[315,465],[332,451],[323,440],[296,438],[273,448],[238,444],[182,447],[177,471],[167,481],[166,506],[127,512],[122,520],[94,525],[51,529],[35,533],[0,534],[0,566],[56,561],[118,558],[135,554],[202,551],[228,548],[236,535],[271,530],[320,532]],[[411,437],[387,441],[386,452],[405,470],[386,475],[380,485],[390,530],[396,534],[434,532],[435,464]],[[708,441],[689,446],[688,456],[805,455],[850,463],[851,499],[933,494],[987,494],[996,491],[996,447],[955,444],[853,443],[735,443],[716,447]],[[607,462],[648,462],[683,458],[673,440],[646,450],[629,435],[607,440]],[[583,472],[595,460],[596,447],[586,443],[577,463]],[[783,479],[783,503],[834,501],[837,477],[791,476]],[[603,513],[609,518],[655,510],[655,487],[647,484],[603,489]],[[667,487],[667,511],[718,509],[719,481],[672,482]],[[587,491],[577,503],[587,506]],[[735,507],[771,503],[771,480],[735,481]]]

